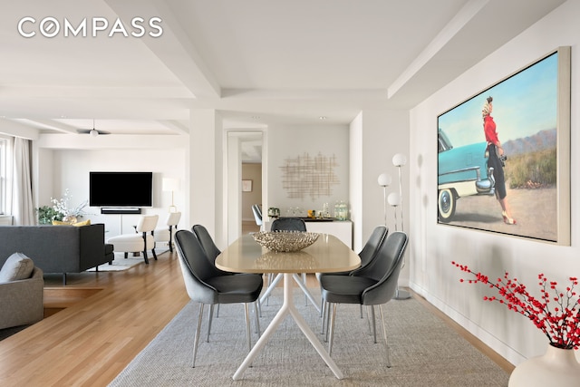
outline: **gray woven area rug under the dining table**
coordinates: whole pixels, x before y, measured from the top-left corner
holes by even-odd
[[[320,298],[319,294],[314,296]],[[262,331],[281,305],[281,298],[278,292],[270,297],[268,305],[262,306]],[[304,295],[297,293],[295,303],[323,341],[314,306],[305,305]],[[334,377],[294,320],[286,317],[256,356],[253,367],[244,373],[243,380],[233,381],[232,375],[247,354],[243,305],[221,305],[208,343],[206,307],[196,368],[191,368],[198,304],[190,302],[110,385],[507,386],[507,372],[418,301],[393,300],[382,308],[388,324],[391,368],[384,362],[378,311],[375,344],[358,305],[339,305],[336,316],[333,360],[343,372],[343,380]]]

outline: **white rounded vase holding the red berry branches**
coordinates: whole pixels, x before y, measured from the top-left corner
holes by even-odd
[[[517,365],[507,385],[577,387],[580,385],[580,363],[576,361],[573,349],[556,348],[549,344],[543,355],[531,357]]]

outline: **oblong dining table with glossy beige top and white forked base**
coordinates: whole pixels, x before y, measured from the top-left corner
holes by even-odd
[[[343,379],[343,372],[324,349],[324,345],[310,329],[304,317],[298,312],[293,297],[293,276],[297,273],[335,273],[350,271],[361,266],[361,258],[339,238],[330,234],[319,234],[314,244],[294,252],[276,252],[260,246],[250,235],[239,237],[216,258],[216,266],[235,273],[283,274],[283,302],[266,331],[260,336],[246,359],[234,373],[233,379],[242,378],[247,367],[274,334],[278,325],[289,314],[295,320],[324,363],[336,378]]]

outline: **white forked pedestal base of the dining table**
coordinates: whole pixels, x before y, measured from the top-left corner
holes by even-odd
[[[282,306],[280,307],[278,313],[275,314],[274,319],[268,325],[266,331],[264,331],[260,339],[257,341],[257,343],[250,351],[250,353],[247,354],[246,359],[239,366],[237,372],[234,373],[233,379],[235,381],[242,378],[242,375],[246,371],[247,367],[249,367],[252,364],[254,358],[256,358],[256,355],[262,350],[262,347],[264,347],[264,345],[269,340],[270,336],[275,332],[278,325],[280,325],[284,321],[285,316],[288,314],[290,314],[292,318],[294,318],[300,330],[306,336],[308,341],[310,341],[310,343],[314,346],[316,352],[320,355],[320,357],[323,358],[324,363],[328,365],[328,367],[331,369],[334,375],[338,379],[343,379],[343,372],[341,372],[341,370],[338,368],[338,366],[336,366],[336,363],[334,363],[333,359],[330,357],[328,352],[326,352],[326,350],[324,349],[324,345],[320,343],[320,341],[316,337],[316,334],[314,334],[314,332],[310,329],[310,327],[304,320],[304,317],[298,313],[298,310],[296,309],[296,306],[294,304],[292,283],[293,283],[293,274],[284,273],[284,301],[282,303]]]

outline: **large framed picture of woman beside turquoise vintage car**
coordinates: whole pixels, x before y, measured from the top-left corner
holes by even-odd
[[[438,223],[570,244],[570,47],[438,116]]]

